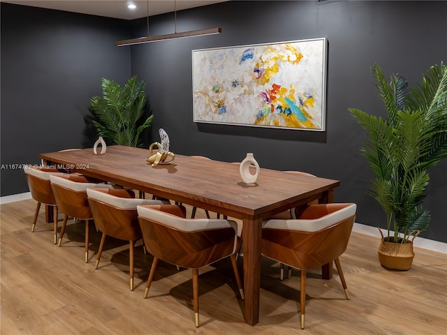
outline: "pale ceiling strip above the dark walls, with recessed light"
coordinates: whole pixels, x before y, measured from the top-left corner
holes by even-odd
[[[184,10],[228,0],[0,0],[1,2],[15,3],[17,5],[66,10],[67,12],[83,13],[105,17],[115,17],[124,20],[133,20],[140,17],[170,13],[175,10]],[[137,8],[130,10],[127,6],[133,3]]]

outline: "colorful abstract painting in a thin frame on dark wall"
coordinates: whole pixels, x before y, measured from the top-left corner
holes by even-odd
[[[326,38],[193,50],[193,120],[325,130]]]

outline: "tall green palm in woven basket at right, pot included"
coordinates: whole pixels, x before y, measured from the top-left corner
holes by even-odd
[[[361,148],[374,172],[369,194],[386,213],[388,235],[381,239],[379,261],[390,269],[408,270],[413,239],[430,224],[423,207],[430,176],[428,168],[447,158],[447,70],[432,66],[423,80],[409,88],[404,77],[386,81],[379,65],[372,66],[386,118],[349,108],[367,131]]]

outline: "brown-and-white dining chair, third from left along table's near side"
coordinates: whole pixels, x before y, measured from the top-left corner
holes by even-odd
[[[87,200],[96,228],[103,233],[96,256],[95,269],[98,269],[106,236],[129,241],[129,277],[132,291],[134,246],[135,241],[142,239],[137,206],[140,204],[166,204],[166,202],[135,199],[133,191],[110,188],[87,188]]]

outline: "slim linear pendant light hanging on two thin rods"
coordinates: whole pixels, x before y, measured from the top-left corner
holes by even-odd
[[[185,37],[193,37],[193,36],[205,36],[205,35],[214,35],[221,34],[221,28],[210,28],[210,29],[200,29],[193,31],[184,31],[182,33],[177,33],[177,1],[174,1],[174,13],[175,13],[175,33],[174,34],[166,34],[159,36],[149,36],[149,0],[147,0],[147,37],[140,38],[131,38],[129,40],[117,40],[115,45],[117,47],[123,47],[125,45],[136,45],[142,43],[156,42],[158,40],[171,40],[174,38],[185,38]]]

